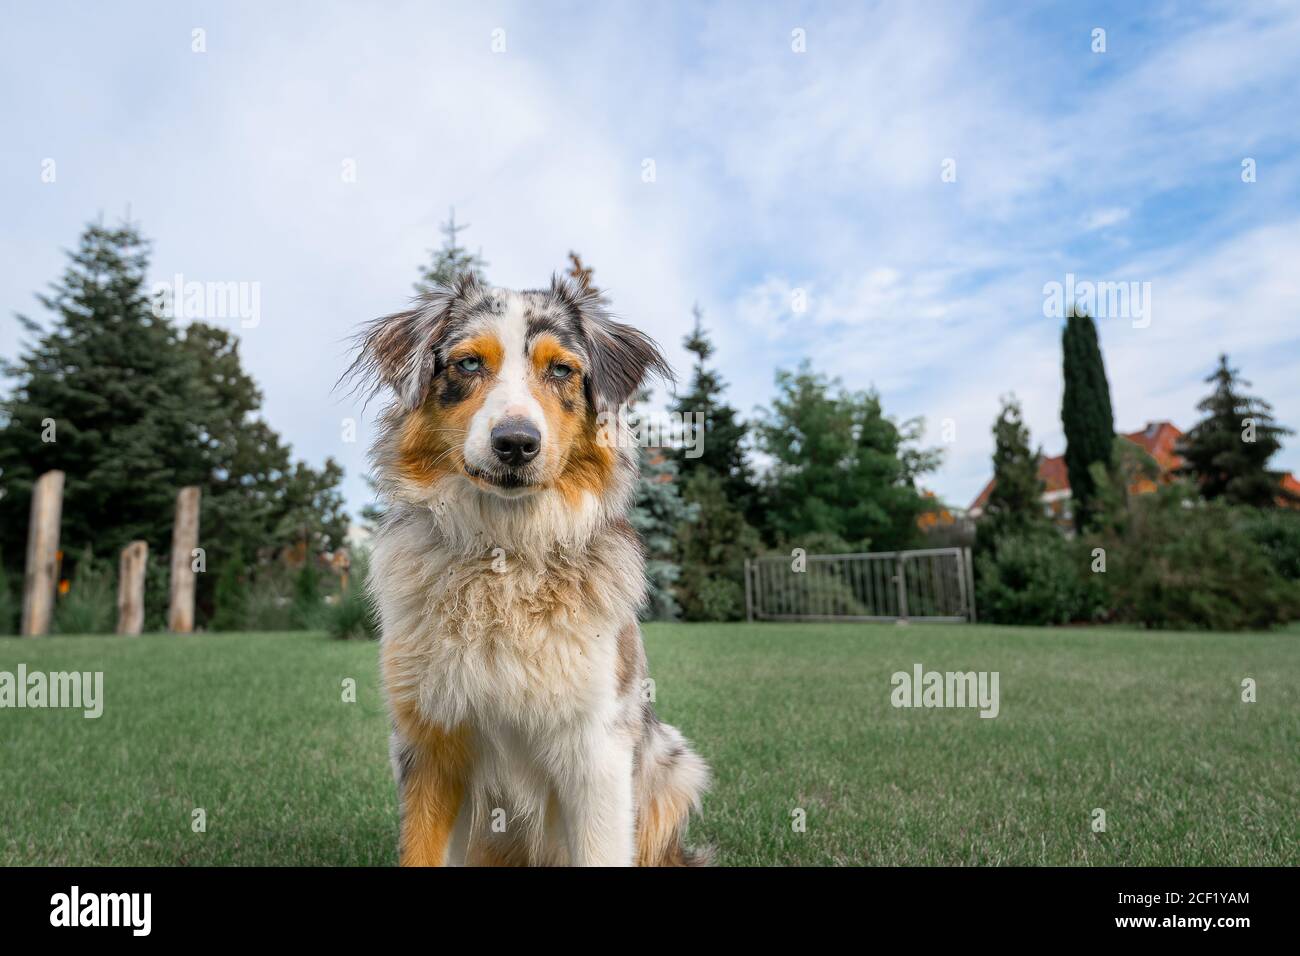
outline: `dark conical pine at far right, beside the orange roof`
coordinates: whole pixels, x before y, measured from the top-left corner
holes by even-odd
[[[1219,355],[1218,368],[1205,381],[1214,392],[1196,406],[1205,419],[1179,444],[1183,473],[1212,501],[1273,507],[1279,499],[1292,499],[1282,488],[1282,472],[1269,470],[1282,436],[1292,434],[1291,429],[1274,421],[1268,402],[1243,394],[1251,382],[1228,365],[1227,355]]]

